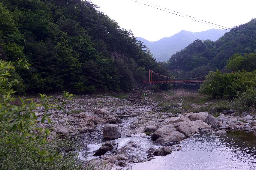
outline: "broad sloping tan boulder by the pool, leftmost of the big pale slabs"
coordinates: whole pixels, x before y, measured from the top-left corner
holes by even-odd
[[[176,131],[173,124],[165,125],[160,129],[156,130],[152,135],[152,139],[160,144],[168,142],[178,142],[184,139],[186,136]]]

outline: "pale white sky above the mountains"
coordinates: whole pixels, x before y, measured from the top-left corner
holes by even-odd
[[[136,1],[142,3],[146,1],[227,28],[244,24],[252,18],[256,18],[255,0]],[[143,37],[149,41],[170,37],[181,30],[200,32],[211,28],[221,29],[148,7],[132,0],[91,0],[91,2],[99,6],[99,10],[118,22],[122,28],[132,30],[136,37]]]

